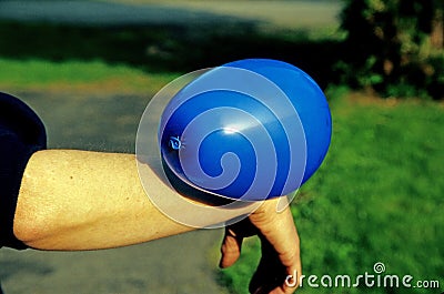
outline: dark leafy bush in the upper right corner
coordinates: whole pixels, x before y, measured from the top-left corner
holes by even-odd
[[[347,53],[334,65],[343,83],[383,97],[444,98],[443,1],[344,2]]]

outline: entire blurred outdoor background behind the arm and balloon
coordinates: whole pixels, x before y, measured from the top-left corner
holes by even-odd
[[[49,146],[134,152],[150,99],[189,71],[290,62],[325,91],[333,138],[292,204],[305,275],[386,274],[444,290],[444,32],[437,0],[4,1],[0,91]],[[97,252],[0,251],[13,293],[248,293],[260,245],[218,270],[220,230]],[[436,283],[430,283],[436,285]],[[337,288],[405,293],[403,288]],[[300,293],[332,293],[304,286]]]

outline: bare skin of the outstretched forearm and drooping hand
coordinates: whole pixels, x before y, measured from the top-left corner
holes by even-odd
[[[150,176],[150,193],[162,193]],[[209,225],[212,224],[211,220]],[[125,246],[184,233],[193,227],[162,214],[140,183],[133,154],[44,150],[24,171],[14,217],[14,234],[38,250],[98,250]],[[293,293],[284,282],[301,274],[300,243],[289,209],[263,203],[249,219],[228,226],[221,267],[235,263],[242,240],[259,235],[262,260],[252,293]]]

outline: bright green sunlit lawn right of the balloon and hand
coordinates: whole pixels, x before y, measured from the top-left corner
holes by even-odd
[[[311,288],[297,293],[441,293],[444,288],[443,104],[331,101],[334,134],[319,172],[292,204],[306,276],[385,274],[438,280],[441,290]],[[361,102],[356,102],[361,101]],[[248,293],[260,245],[221,273],[232,293]],[[319,282],[319,281],[317,281]]]

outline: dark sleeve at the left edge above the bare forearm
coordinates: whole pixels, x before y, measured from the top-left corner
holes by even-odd
[[[27,247],[13,234],[17,197],[29,159],[46,148],[39,116],[17,98],[0,92],[0,247]]]

